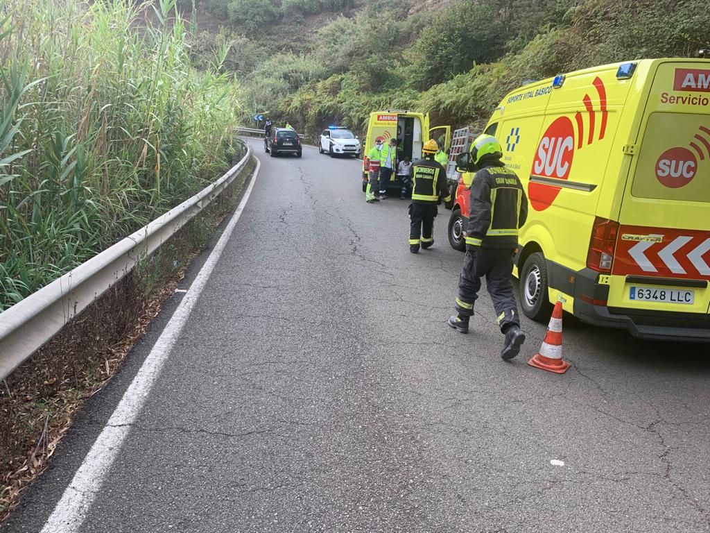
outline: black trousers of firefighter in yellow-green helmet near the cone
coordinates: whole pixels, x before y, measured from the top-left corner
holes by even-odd
[[[481,290],[481,277],[486,276],[486,288],[496,308],[501,330],[508,324],[520,325],[518,307],[513,296],[513,253],[510,248],[479,248],[466,252],[464,267],[459,275],[459,297],[456,310],[461,316],[474,314],[474,303]]]

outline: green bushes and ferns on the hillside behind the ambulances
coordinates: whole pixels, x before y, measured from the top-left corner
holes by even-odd
[[[480,125],[523,80],[692,57],[710,44],[701,0],[454,0],[435,11],[417,0],[365,1],[314,35],[279,41],[294,29],[283,13],[261,28],[271,39],[251,33],[269,55],[243,72],[245,119],[268,110],[312,136],[331,122],[362,131],[368,112],[390,107],[430,112],[434,124]]]

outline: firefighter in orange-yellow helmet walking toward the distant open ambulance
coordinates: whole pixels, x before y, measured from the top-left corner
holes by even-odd
[[[442,198],[449,201],[449,188],[446,181],[446,171],[434,159],[439,146],[437,141],[430,139],[425,142],[424,158],[412,163],[409,176],[412,187],[412,203],[409,205],[409,251],[419,253],[419,247],[427,249],[434,244],[432,230],[434,217],[437,216],[437,205]]]

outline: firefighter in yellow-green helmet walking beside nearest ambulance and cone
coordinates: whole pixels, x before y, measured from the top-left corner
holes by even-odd
[[[518,176],[506,168],[502,157],[501,144],[486,134],[473,142],[468,154],[468,168],[475,170],[476,176],[471,183],[466,257],[456,298],[458,315],[449,318],[449,325],[461,333],[469,333],[469,318],[474,314],[481,276],[485,275],[498,325],[506,335],[501,357],[508,360],[518,355],[520,345],[525,342],[510,276],[518,246],[518,228],[528,217],[528,198]]]

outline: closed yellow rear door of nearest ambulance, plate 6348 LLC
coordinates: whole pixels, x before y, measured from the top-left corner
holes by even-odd
[[[707,324],[710,60],[665,60],[652,76],[638,143],[625,147],[608,306]]]

